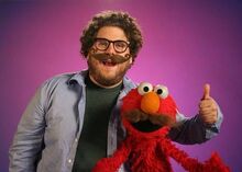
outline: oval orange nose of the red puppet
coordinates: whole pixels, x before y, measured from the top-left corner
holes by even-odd
[[[160,96],[155,92],[148,92],[141,100],[141,110],[147,114],[156,114],[160,107]]]

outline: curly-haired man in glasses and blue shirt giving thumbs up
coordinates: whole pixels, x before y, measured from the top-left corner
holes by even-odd
[[[54,77],[37,90],[10,148],[10,172],[88,172],[125,137],[119,112],[135,87],[124,76],[142,47],[139,25],[128,13],[106,11],[92,18],[80,42],[88,70]],[[209,90],[207,84],[198,115],[177,114],[174,141],[200,144],[218,134],[222,114]]]

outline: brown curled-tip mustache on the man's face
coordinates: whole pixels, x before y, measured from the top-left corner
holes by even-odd
[[[112,64],[123,64],[131,58],[130,54],[125,54],[124,56],[121,56],[121,55],[109,55],[106,53],[101,53],[101,54],[92,53],[90,56],[101,62],[108,61],[108,62],[112,62]]]

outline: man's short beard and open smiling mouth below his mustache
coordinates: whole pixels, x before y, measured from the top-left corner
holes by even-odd
[[[94,56],[89,56],[87,64],[89,76],[103,87],[112,87],[121,82],[127,71],[131,68],[129,60],[113,62],[101,59],[98,60]]]

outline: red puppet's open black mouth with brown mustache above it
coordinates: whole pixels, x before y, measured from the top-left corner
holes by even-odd
[[[132,125],[132,127],[143,133],[155,131],[164,126],[175,126],[174,119],[168,115],[151,115],[140,110],[125,113],[123,117]]]

